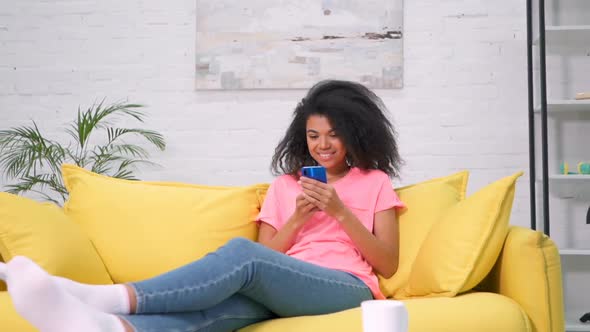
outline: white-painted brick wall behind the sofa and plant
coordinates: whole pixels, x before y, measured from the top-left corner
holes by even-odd
[[[377,91],[400,134],[401,184],[469,169],[472,193],[528,171],[524,6],[406,1],[405,87]],[[0,127],[56,132],[78,105],[129,99],[168,142],[142,178],[271,181],[304,91],[195,92],[194,38],[194,0],[0,0]],[[528,178],[517,188],[512,223],[526,226]]]

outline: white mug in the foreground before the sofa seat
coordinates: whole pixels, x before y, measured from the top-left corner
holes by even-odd
[[[408,331],[408,310],[401,301],[363,301],[361,310],[363,314],[363,332]]]

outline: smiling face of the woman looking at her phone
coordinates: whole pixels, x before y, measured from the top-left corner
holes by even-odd
[[[318,164],[326,168],[328,174],[340,174],[348,169],[346,147],[332,128],[328,118],[311,115],[305,126],[307,149]]]

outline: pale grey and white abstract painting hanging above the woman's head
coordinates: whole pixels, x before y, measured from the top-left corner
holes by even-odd
[[[403,86],[403,0],[197,0],[198,90]]]

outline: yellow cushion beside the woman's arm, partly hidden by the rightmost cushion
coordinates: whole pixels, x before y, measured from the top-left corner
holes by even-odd
[[[386,297],[391,298],[408,282],[412,263],[430,227],[450,207],[465,199],[468,178],[469,172],[462,171],[395,190],[406,208],[397,215],[400,228],[397,272],[389,279],[379,276],[379,286]]]

